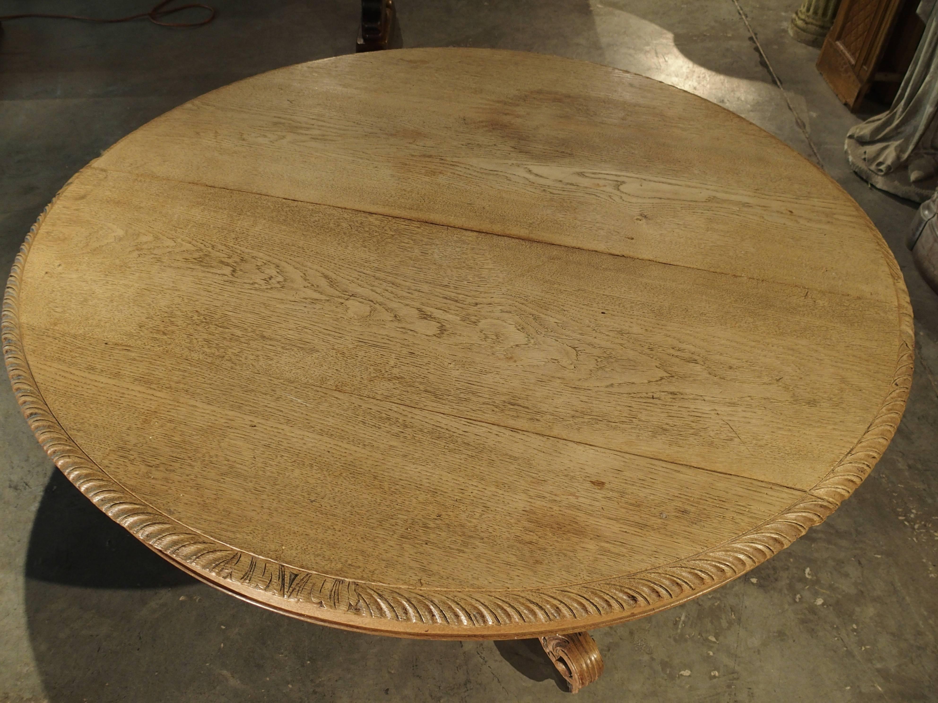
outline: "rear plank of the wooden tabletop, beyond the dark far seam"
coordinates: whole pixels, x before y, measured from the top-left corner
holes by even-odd
[[[788,146],[670,85],[554,56],[281,68],[167,112],[98,164],[895,299],[869,219]]]

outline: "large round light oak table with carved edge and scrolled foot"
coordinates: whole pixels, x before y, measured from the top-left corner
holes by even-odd
[[[3,343],[58,467],[193,576],[395,636],[541,637],[718,587],[869,473],[912,316],[745,120],[516,52],[340,56],[168,112],[23,245]]]

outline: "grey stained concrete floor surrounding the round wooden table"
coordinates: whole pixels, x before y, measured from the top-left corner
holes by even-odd
[[[0,268],[8,270],[68,176],[118,138],[219,85],[354,46],[357,0],[204,1],[219,7],[219,18],[194,30],[6,24]],[[859,118],[815,71],[817,50],[785,33],[800,0],[398,2],[405,46],[501,47],[627,68],[776,134],[862,205],[896,253],[915,307],[912,396],[870,479],[824,525],[747,578],[595,632],[606,672],[579,699],[938,700],[938,297],[902,246],[914,207],[847,167],[843,137]],[[0,14],[66,5],[119,15],[149,3],[0,3]],[[346,633],[197,583],[53,469],[6,382],[0,418],[0,702],[569,696],[535,642]]]

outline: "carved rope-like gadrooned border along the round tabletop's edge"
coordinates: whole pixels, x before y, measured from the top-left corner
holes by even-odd
[[[609,624],[658,611],[708,591],[740,576],[791,545],[810,527],[833,513],[883,456],[899,426],[912,384],[914,327],[912,307],[899,265],[877,236],[896,288],[900,345],[896,373],[882,406],[855,446],[813,488],[785,511],[722,545],[658,569],[601,581],[557,588],[516,591],[437,591],[404,589],[352,581],[303,571],[277,561],[238,551],[202,534],[137,499],[116,483],[71,441],[39,393],[23,351],[19,298],[23,265],[29,248],[58,197],[43,210],[16,257],[3,302],[3,352],[20,408],[42,448],[55,465],[102,511],[147,546],[210,583],[228,582],[233,590],[263,591],[259,599],[296,614],[291,604],[331,610],[341,618],[333,624],[349,625],[348,616],[361,616],[361,629],[383,629],[401,624],[433,625],[473,636],[485,630],[497,636],[499,628],[514,635],[530,627],[555,632],[582,629],[582,621]],[[263,596],[263,597],[262,597]],[[272,596],[272,598],[271,598]],[[277,606],[277,602],[282,603]],[[319,620],[317,618],[317,620]],[[324,612],[322,621],[328,623]],[[394,629],[393,627],[391,628]],[[437,635],[439,636],[439,635]]]

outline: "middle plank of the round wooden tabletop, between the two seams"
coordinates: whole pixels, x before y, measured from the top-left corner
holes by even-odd
[[[98,169],[46,228],[26,332],[44,328],[54,358],[95,330],[83,357],[107,341],[134,354],[119,369],[165,366],[158,382],[177,360],[244,367],[288,395],[315,386],[800,489],[869,425],[899,344],[894,305]]]

